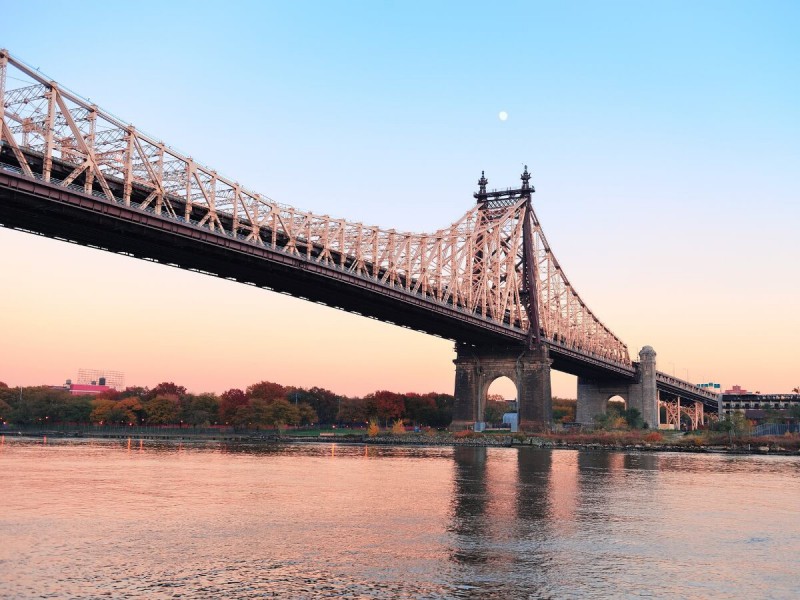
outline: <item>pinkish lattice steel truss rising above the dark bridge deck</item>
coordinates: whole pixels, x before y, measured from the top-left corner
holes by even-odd
[[[10,69],[13,80],[6,77]],[[79,186],[160,218],[303,257],[592,360],[631,365],[626,345],[567,279],[529,194],[490,192],[491,218],[479,203],[433,233],[386,230],[300,211],[251,191],[47,80],[5,50],[0,94],[8,106],[0,113],[0,142],[10,149],[3,156],[13,156],[28,177]],[[527,170],[523,187],[525,175]],[[525,297],[531,288],[532,302]],[[538,307],[534,330],[532,306]]]

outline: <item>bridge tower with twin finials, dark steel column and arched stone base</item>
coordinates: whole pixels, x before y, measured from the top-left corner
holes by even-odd
[[[520,205],[517,219],[522,221],[522,289],[520,300],[527,313],[528,329],[525,342],[519,345],[471,345],[456,344],[455,405],[450,429],[468,429],[483,421],[486,396],[489,386],[500,377],[508,377],[517,388],[517,406],[521,429],[546,429],[552,424],[552,394],[550,389],[551,360],[547,346],[541,338],[539,324],[539,294],[536,287],[537,272],[533,248],[533,207],[530,184],[531,175],[527,165],[522,173],[522,186],[515,190],[486,190],[489,181],[484,173],[478,180],[478,192],[474,194],[478,203],[480,230],[491,232],[494,219],[505,213],[510,206]],[[520,204],[520,200],[524,202]],[[489,234],[486,234],[486,238]],[[487,253],[497,252],[488,239],[479,236],[472,259],[473,280],[479,279],[484,266],[489,262]]]

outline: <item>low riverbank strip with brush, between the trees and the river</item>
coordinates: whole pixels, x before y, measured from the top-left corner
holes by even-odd
[[[81,431],[81,430],[20,430],[7,429],[2,435],[28,438],[56,439],[135,439],[163,442],[221,442],[232,444],[264,443],[337,443],[378,446],[474,446],[474,447],[534,447],[584,451],[626,452],[689,452],[714,454],[771,454],[800,456],[800,436],[738,437],[727,438],[724,434],[700,432],[639,432],[598,431],[589,433],[549,433],[539,435],[478,434],[473,432],[450,433],[429,431],[424,433],[392,434],[380,433],[370,437],[361,433],[332,434],[318,436],[279,435],[274,431],[209,433],[192,430],[165,430],[157,432]]]

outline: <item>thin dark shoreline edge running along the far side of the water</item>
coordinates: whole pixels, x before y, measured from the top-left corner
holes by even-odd
[[[114,432],[103,435],[92,432],[86,435],[82,431],[14,431],[0,432],[0,435],[11,438],[56,438],[81,440],[125,440],[136,439],[149,442],[216,442],[233,444],[347,444],[362,446],[397,446],[397,447],[486,447],[486,448],[539,448],[545,450],[581,450],[600,452],[683,452],[688,454],[729,454],[759,456],[800,456],[800,450],[786,449],[765,440],[764,444],[742,443],[728,445],[705,445],[665,442],[641,443],[600,443],[586,441],[549,440],[536,436],[484,436],[456,438],[452,435],[341,435],[341,436],[291,436],[273,433],[226,433],[220,435],[193,434],[191,432],[176,434],[174,432],[135,433]]]

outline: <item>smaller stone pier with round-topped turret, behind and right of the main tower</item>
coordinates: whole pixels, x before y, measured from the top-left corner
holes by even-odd
[[[658,429],[656,353],[653,348],[645,346],[639,352],[636,379],[633,382],[578,377],[576,420],[584,425],[593,424],[594,417],[606,412],[606,405],[614,396],[622,397],[626,408],[638,409],[648,427]]]

